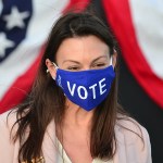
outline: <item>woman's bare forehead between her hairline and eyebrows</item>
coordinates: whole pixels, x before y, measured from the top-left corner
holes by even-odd
[[[57,62],[63,60],[91,60],[102,54],[109,54],[109,47],[97,36],[66,38],[57,52]]]

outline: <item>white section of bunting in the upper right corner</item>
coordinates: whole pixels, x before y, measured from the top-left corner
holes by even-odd
[[[139,47],[153,73],[163,79],[163,1],[130,0]]]

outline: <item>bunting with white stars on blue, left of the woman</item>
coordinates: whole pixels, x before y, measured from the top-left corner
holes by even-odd
[[[0,113],[30,91],[43,45],[54,21],[66,10],[84,10],[89,0],[0,1]]]

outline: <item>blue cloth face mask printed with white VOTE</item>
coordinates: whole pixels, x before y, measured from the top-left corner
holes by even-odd
[[[112,64],[102,70],[80,72],[68,72],[58,67],[55,82],[72,102],[90,111],[106,98],[114,77]]]

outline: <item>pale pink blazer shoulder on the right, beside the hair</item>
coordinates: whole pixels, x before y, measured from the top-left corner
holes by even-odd
[[[151,145],[147,129],[130,117],[117,120],[115,126],[117,151],[125,160],[151,163]],[[120,153],[117,154],[120,156]]]

